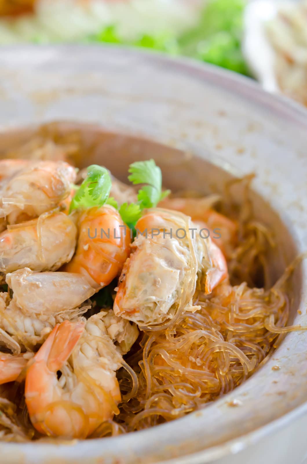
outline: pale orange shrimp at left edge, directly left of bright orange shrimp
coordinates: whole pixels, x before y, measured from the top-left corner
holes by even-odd
[[[64,213],[45,213],[0,233],[0,272],[55,271],[70,261],[77,228]]]

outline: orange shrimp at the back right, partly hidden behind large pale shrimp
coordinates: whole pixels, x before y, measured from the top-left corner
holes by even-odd
[[[211,197],[210,197],[211,198]],[[181,211],[190,216],[200,228],[210,231],[210,238],[230,258],[237,244],[238,225],[236,221],[217,213],[211,208],[211,202],[205,198],[166,198],[160,202],[165,208]]]

